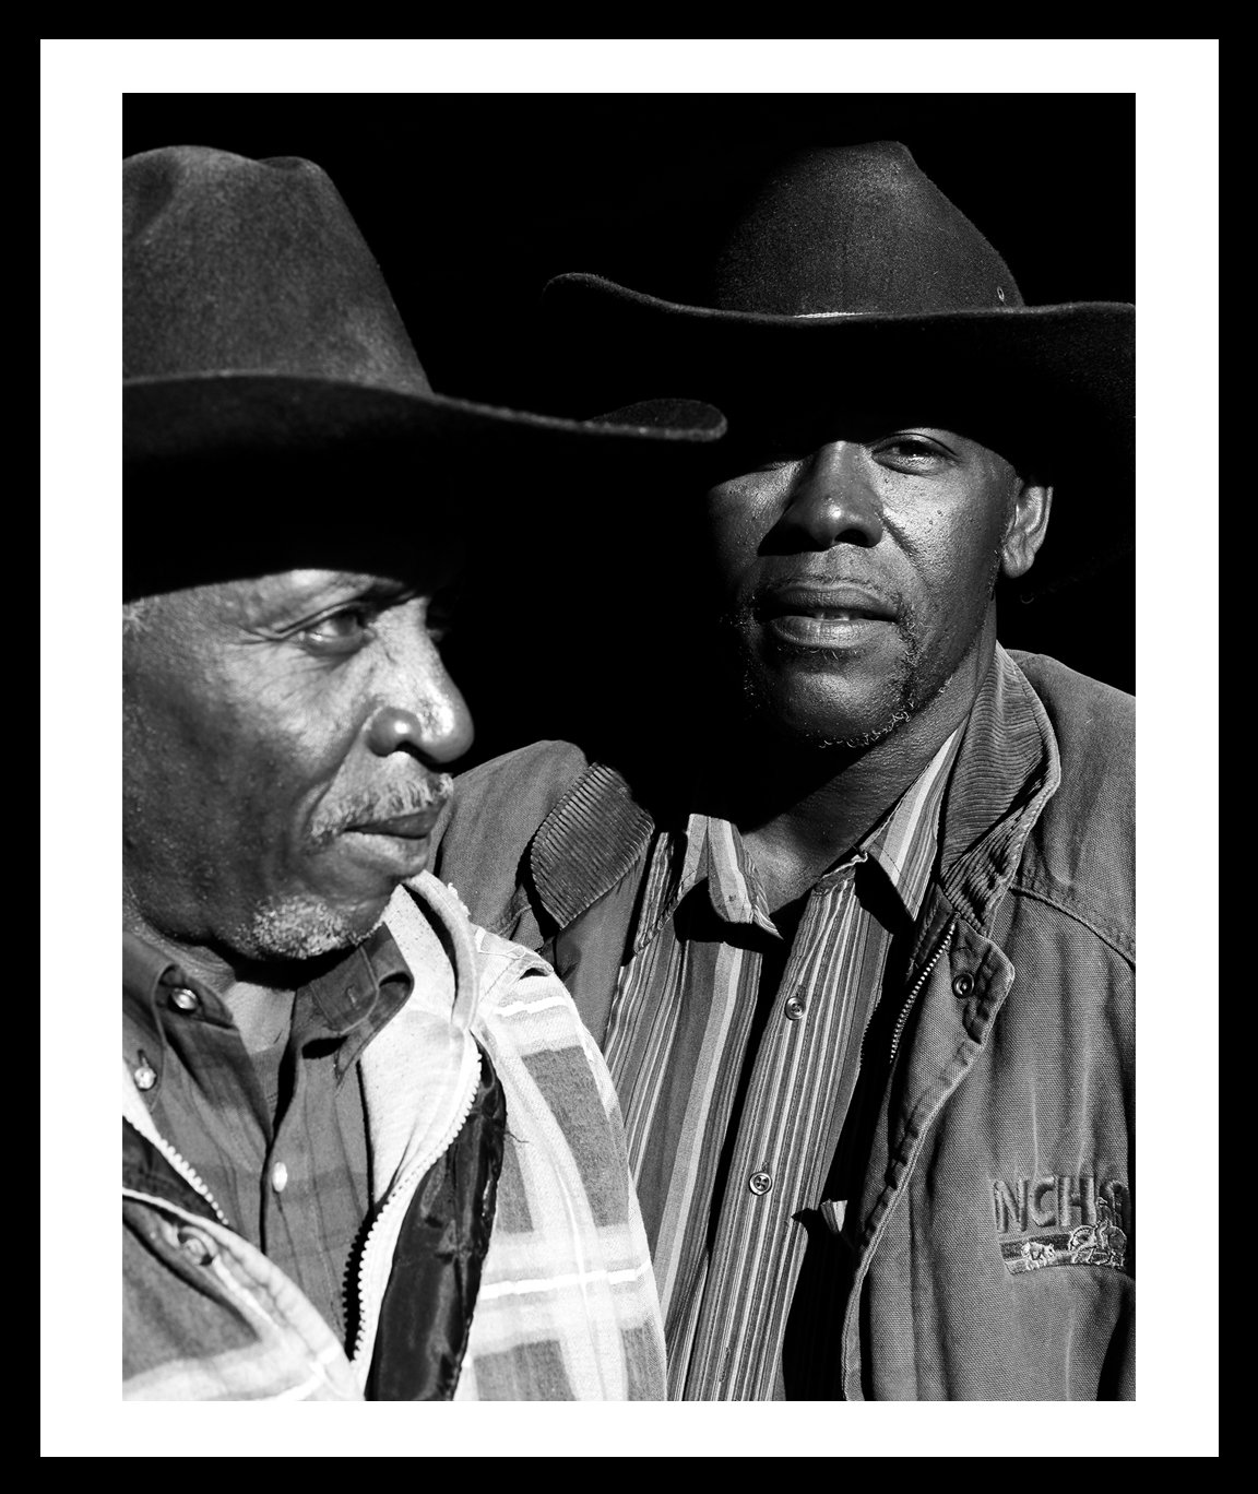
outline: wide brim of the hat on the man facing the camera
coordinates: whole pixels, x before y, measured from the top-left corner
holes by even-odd
[[[663,300],[598,275],[544,293],[551,344],[587,397],[623,402],[662,382],[729,420],[714,462],[749,424],[787,411],[807,427],[886,405],[1032,465],[1056,489],[1049,539],[1019,583],[1029,598],[1134,545],[1135,308],[1070,302],[991,311],[783,317]]]

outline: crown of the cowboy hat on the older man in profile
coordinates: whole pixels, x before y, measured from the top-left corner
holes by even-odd
[[[312,161],[172,146],[123,161],[123,378],[267,372],[432,385]]]

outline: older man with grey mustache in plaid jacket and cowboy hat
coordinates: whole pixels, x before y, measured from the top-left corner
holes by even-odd
[[[309,161],[151,151],[123,209],[126,1392],[657,1398],[605,1065],[424,867],[457,509],[720,420],[433,394]]]

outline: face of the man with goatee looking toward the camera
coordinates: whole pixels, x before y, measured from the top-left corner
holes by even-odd
[[[708,492],[723,635],[760,722],[865,747],[977,687],[1001,568],[1029,568],[1050,490],[952,430],[862,421]]]

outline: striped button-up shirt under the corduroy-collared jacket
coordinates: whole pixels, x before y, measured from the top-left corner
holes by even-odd
[[[656,1270],[669,1398],[823,1395],[838,1318],[810,1237],[893,935],[916,919],[961,734],[856,852],[769,916],[731,823],[692,814],[650,852],[605,1053]],[[793,937],[792,937],[793,932]],[[831,1246],[832,1249],[832,1246]],[[795,1369],[784,1371],[790,1339]]]

